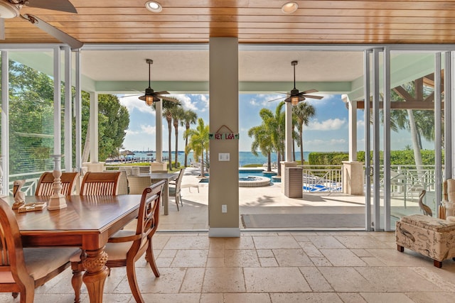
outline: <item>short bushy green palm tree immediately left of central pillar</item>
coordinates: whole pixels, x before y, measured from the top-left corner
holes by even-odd
[[[185,148],[185,153],[193,150],[195,157],[200,157],[200,176],[204,177],[204,151],[208,155],[208,125],[204,124],[202,118],[198,119],[196,129],[188,129],[185,131],[186,137],[190,138],[188,145]]]

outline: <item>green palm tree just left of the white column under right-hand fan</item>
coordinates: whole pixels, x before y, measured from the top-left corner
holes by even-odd
[[[280,102],[275,109],[275,113],[272,113],[269,109],[261,109],[259,116],[262,118],[267,133],[270,136],[274,150],[277,152],[277,164],[278,172],[277,175],[281,176],[281,165],[282,154],[284,151],[284,137],[285,137],[285,120],[286,115],[283,111],[284,101]]]

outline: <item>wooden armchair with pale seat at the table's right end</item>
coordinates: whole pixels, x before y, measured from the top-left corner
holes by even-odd
[[[137,285],[136,261],[146,253],[146,260],[149,262],[155,277],[160,275],[156,267],[151,238],[159,224],[159,206],[164,184],[166,184],[166,181],[161,180],[143,190],[139,204],[136,231],[117,231],[109,238],[105,246],[105,252],[107,253],[106,266],[109,269],[127,268],[129,287],[136,302],[144,302]],[[82,258],[84,258],[84,255],[82,255]],[[73,287],[74,285],[79,287],[75,287],[76,298],[80,297],[80,285],[82,285],[82,275],[78,270],[80,269],[80,264],[80,260],[72,260]]]

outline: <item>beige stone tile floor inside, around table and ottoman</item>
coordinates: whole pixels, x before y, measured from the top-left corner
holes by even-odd
[[[397,251],[390,232],[157,233],[161,277],[137,262],[146,302],[454,302],[455,262]],[[35,302],[73,302],[70,270],[36,290]],[[88,302],[83,287],[82,302]],[[124,269],[114,268],[105,302],[134,302]],[[1,294],[0,302],[18,302]]]

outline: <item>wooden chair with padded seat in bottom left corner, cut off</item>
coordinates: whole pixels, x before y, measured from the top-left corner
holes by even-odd
[[[11,206],[0,199],[0,292],[21,294],[21,303],[32,303],[35,288],[70,266],[78,248],[23,248]]]

